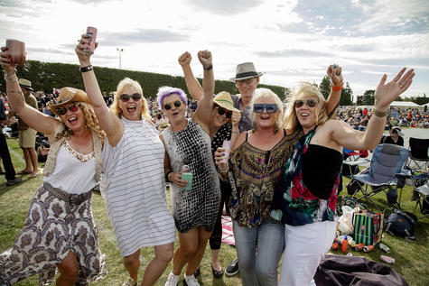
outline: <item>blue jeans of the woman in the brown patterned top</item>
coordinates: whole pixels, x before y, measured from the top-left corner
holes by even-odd
[[[252,228],[233,220],[243,285],[277,285],[277,267],[284,251],[284,225],[263,222]]]

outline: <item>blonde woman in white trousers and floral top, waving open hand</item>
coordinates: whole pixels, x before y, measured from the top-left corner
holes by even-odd
[[[415,75],[413,69],[404,75],[405,71],[402,69],[387,84],[387,75],[381,78],[365,132],[339,120],[328,120],[326,101],[311,83],[303,83],[290,97],[285,126],[303,129],[305,136],[284,165],[273,199],[271,217],[285,225],[280,285],[315,285],[312,277],[335,236],[342,149],[376,147],[388,106],[406,91]]]

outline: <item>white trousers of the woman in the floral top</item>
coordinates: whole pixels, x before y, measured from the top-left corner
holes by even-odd
[[[315,285],[312,277],[324,254],[331,248],[336,226],[337,222],[334,221],[285,226],[285,248],[279,285]]]

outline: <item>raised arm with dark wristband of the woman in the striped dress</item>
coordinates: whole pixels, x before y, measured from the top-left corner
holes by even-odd
[[[80,68],[88,68],[88,71],[82,72],[83,82],[87,91],[89,100],[94,106],[94,111],[97,115],[98,122],[101,128],[107,134],[107,140],[112,146],[116,146],[119,140],[124,134],[124,125],[117,115],[115,115],[110,109],[108,109],[106,102],[104,101],[101,90],[98,87],[98,81],[94,70],[92,69],[91,55],[85,51],[86,44],[89,43],[88,35],[82,34],[79,44],[76,46],[76,54],[79,58]],[[97,48],[98,44],[96,44]]]

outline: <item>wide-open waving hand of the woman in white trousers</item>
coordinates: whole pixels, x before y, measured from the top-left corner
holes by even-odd
[[[411,85],[413,77],[415,76],[414,69],[408,70],[405,75],[404,72],[406,72],[406,68],[401,69],[397,73],[396,77],[387,84],[385,84],[387,75],[383,75],[374,95],[375,107],[387,108],[392,101],[399,97],[399,95],[406,91],[406,89]]]

